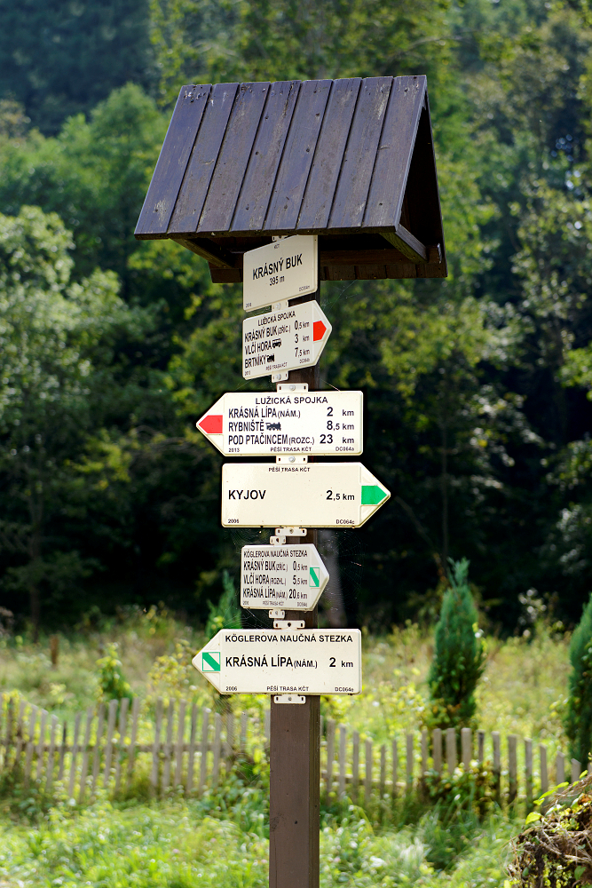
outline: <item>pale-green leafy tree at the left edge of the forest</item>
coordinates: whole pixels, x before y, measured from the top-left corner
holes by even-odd
[[[80,517],[91,493],[77,463],[106,406],[95,399],[122,394],[113,346],[152,323],[122,302],[113,273],[70,281],[71,247],[55,214],[0,216],[0,549],[4,587],[28,593],[36,633],[43,592],[59,599],[96,567],[60,539],[59,519]],[[95,465],[99,487],[121,468]]]

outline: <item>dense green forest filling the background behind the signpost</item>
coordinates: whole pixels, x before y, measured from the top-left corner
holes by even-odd
[[[48,629],[205,622],[219,526],[195,420],[241,378],[239,286],[133,230],[183,83],[428,75],[446,281],[322,286],[322,385],[361,388],[392,491],[338,535],[347,619],[490,626],[592,589],[592,11],[572,0],[0,0],[0,599]],[[270,385],[265,383],[265,385]],[[263,537],[261,537],[263,538]]]

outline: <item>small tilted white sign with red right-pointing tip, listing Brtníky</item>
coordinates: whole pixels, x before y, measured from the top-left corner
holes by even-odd
[[[331,329],[314,300],[247,318],[242,321],[243,377],[314,367]]]

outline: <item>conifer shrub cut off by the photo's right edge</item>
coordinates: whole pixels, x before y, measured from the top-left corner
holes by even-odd
[[[585,768],[592,746],[592,595],[572,635],[570,662],[565,733],[572,758]]]

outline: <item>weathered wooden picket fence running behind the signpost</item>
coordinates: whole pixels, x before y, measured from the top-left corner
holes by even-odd
[[[270,711],[262,716],[228,711],[212,713],[195,703],[159,699],[154,714],[142,714],[135,698],[92,707],[77,713],[73,724],[55,715],[0,696],[0,780],[11,774],[25,785],[51,793],[59,782],[68,798],[90,802],[99,792],[107,797],[133,795],[142,777],[154,796],[172,792],[186,796],[213,789],[245,757],[268,754]],[[475,734],[462,728],[460,743],[454,729],[410,732],[377,746],[333,719],[321,723],[321,793],[327,802],[349,797],[359,805],[386,802],[416,788],[423,775],[454,773],[471,762],[489,763],[500,804],[517,798],[531,805],[549,787],[580,777],[580,762],[557,752],[549,769],[548,749],[538,746],[533,767],[533,741],[509,734],[502,755],[501,734]],[[487,749],[486,749],[487,747]],[[460,753],[460,754],[459,754]],[[518,768],[518,759],[521,767]],[[520,770],[521,774],[518,773]],[[550,773],[552,771],[552,773]]]

